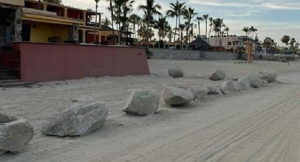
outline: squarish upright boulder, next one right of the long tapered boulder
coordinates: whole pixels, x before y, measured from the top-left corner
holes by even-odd
[[[124,111],[138,116],[157,113],[160,95],[148,90],[135,90],[129,96]]]

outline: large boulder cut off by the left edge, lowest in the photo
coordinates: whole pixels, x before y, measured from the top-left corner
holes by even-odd
[[[13,120],[0,124],[0,152],[22,151],[34,135],[27,120]]]

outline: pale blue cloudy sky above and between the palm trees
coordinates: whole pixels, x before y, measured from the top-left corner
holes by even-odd
[[[175,0],[157,0],[162,6],[162,13],[169,9],[169,3]],[[272,37],[282,45],[280,38],[289,35],[300,42],[300,0],[180,0],[186,6],[195,8],[199,15],[209,14],[213,18],[224,18],[224,23],[229,27],[229,35],[245,35],[241,32],[244,26],[253,25],[258,29],[260,39]],[[66,6],[76,8],[95,8],[94,0],[63,0]],[[145,0],[136,0],[134,13],[137,6],[145,4]],[[100,12],[103,17],[109,18],[107,11],[108,2],[100,0]],[[170,18],[169,23],[175,24],[175,19]],[[201,23],[201,35],[205,33],[205,23]],[[196,31],[198,33],[198,30]]]

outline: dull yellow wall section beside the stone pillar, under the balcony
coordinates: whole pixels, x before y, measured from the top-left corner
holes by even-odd
[[[30,29],[30,42],[48,42],[49,37],[59,37],[61,43],[68,40],[68,26],[34,23]]]

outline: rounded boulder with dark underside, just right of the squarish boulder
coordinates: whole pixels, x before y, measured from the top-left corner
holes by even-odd
[[[191,103],[193,94],[186,89],[166,87],[164,89],[164,102],[170,106],[183,106]]]

